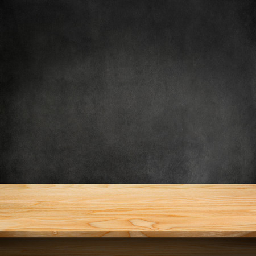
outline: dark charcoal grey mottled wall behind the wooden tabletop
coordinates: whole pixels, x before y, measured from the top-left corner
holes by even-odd
[[[255,10],[1,1],[0,183],[256,183]]]

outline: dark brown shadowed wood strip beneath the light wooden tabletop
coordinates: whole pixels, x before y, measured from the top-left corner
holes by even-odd
[[[256,255],[256,238],[0,238],[3,256]]]

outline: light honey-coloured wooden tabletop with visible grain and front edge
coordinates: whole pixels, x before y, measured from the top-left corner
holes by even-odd
[[[256,237],[256,185],[0,185],[0,237]]]

